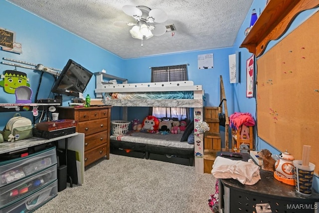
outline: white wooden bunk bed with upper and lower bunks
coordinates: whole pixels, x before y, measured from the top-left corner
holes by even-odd
[[[96,98],[103,99],[105,105],[122,107],[123,120],[128,120],[127,107],[188,107],[194,109],[194,127],[197,122],[203,121],[204,92],[201,85],[194,85],[192,81],[128,83],[127,79],[103,72],[94,74],[96,75]],[[105,81],[106,79],[108,81]],[[116,83],[114,83],[115,81]],[[181,93],[185,93],[186,97],[181,97]],[[141,97],[137,97],[136,94],[141,95]],[[167,94],[177,94],[177,97],[170,97],[170,95],[168,97]],[[153,95],[155,96],[153,97]],[[122,98],[116,99],[118,96],[122,96]],[[127,96],[134,98],[129,99]],[[140,138],[132,139],[134,134],[138,134],[136,137]],[[185,145],[185,142],[180,142],[180,139],[164,139],[166,142],[169,141],[165,144],[154,138],[146,138],[153,137],[153,134],[146,133],[145,136],[141,136],[141,134],[143,133],[130,132],[127,136],[111,136],[111,151],[112,149],[122,150],[122,152],[124,150],[133,153],[133,156],[141,154],[147,159],[157,158],[155,160],[163,161],[167,161],[164,159],[166,156],[168,162],[181,164],[185,164],[185,161],[179,160],[186,159],[185,165],[193,166],[194,162],[195,170],[203,173],[203,134],[195,137],[195,145],[186,142],[186,146],[182,146],[182,143]],[[181,136],[182,134],[179,134],[179,137]],[[125,141],[128,138],[131,140]],[[160,156],[163,158],[158,159]],[[169,161],[169,158],[170,160],[175,159],[175,161]]]

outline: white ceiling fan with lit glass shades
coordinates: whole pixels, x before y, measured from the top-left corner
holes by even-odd
[[[162,23],[167,20],[167,14],[162,9],[155,8],[151,9],[147,6],[132,6],[125,5],[122,10],[132,16],[136,23],[127,21],[115,21],[115,26],[133,26],[130,33],[133,38],[149,39],[153,35],[160,36],[166,32],[166,26]],[[143,41],[142,41],[143,42]],[[143,43],[142,43],[143,46]]]

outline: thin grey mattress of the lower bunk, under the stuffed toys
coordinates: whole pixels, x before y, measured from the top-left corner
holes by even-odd
[[[125,136],[114,136],[111,135],[110,139],[115,141],[125,141],[131,143],[148,144],[163,147],[173,147],[182,149],[194,149],[193,144],[188,144],[187,142],[180,142],[182,134],[152,134],[146,132],[129,132]]]

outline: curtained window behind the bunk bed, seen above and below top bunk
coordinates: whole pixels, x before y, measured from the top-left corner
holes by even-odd
[[[152,67],[151,82],[187,81],[187,65]],[[189,120],[189,109],[180,107],[153,107],[153,116],[157,118],[177,118]]]

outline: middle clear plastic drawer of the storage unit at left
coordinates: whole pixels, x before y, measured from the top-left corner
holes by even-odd
[[[0,188],[0,208],[21,200],[57,179],[57,165]]]

